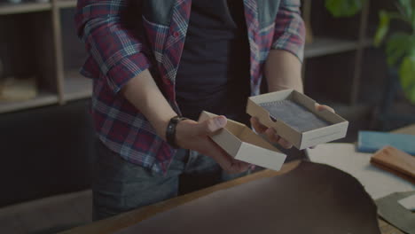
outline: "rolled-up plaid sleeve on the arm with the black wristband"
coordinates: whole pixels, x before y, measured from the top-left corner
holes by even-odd
[[[75,13],[78,36],[115,93],[150,66],[137,30],[122,20],[127,8],[127,0],[78,0]]]

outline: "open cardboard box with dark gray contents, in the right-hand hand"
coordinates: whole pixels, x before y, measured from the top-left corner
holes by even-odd
[[[300,150],[346,136],[348,121],[328,110],[317,111],[315,104],[296,90],[282,90],[248,98],[247,113]]]

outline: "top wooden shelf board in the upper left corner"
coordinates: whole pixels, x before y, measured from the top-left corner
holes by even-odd
[[[0,15],[18,14],[27,12],[46,12],[51,10],[51,3],[20,3],[20,4],[0,4]]]

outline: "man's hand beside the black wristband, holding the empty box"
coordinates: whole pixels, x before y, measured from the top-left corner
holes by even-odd
[[[226,117],[222,115],[202,122],[180,121],[176,127],[176,144],[213,158],[224,171],[230,174],[247,171],[248,163],[234,160],[209,138],[219,129],[223,129],[226,121]]]

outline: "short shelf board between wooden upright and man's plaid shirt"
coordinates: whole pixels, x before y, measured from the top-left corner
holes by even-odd
[[[76,70],[65,72],[64,100],[71,101],[90,98],[92,95],[92,80],[83,77]]]

